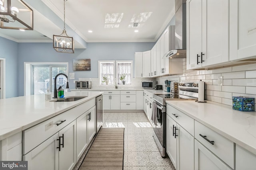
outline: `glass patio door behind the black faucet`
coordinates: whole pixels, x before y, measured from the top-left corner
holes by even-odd
[[[59,73],[68,75],[66,64],[63,65],[32,65],[31,94],[44,94],[47,89],[54,92],[54,78]],[[60,75],[56,79],[56,86],[66,88],[67,78]]]

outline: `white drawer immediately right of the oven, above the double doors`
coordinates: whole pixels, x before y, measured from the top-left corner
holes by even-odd
[[[182,126],[188,133],[194,136],[194,119],[182,113],[178,109],[166,105],[166,114],[172,117],[180,126]]]

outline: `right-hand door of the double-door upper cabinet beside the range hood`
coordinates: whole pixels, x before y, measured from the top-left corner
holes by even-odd
[[[202,66],[229,60],[229,0],[202,1],[202,53]]]

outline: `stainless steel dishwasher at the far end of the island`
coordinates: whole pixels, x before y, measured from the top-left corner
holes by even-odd
[[[103,95],[96,97],[96,123],[97,123],[97,131],[100,130],[100,127],[103,125]]]

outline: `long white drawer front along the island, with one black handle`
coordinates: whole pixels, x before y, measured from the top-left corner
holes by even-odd
[[[30,150],[34,149],[40,143],[60,131],[66,125],[74,121],[77,117],[82,115],[84,112],[95,106],[95,98],[80,104],[68,111],[65,111],[55,117],[52,117],[38,125],[35,125],[22,132],[22,154],[26,154]],[[63,123],[61,123],[63,121]],[[61,123],[57,125],[57,123]]]

